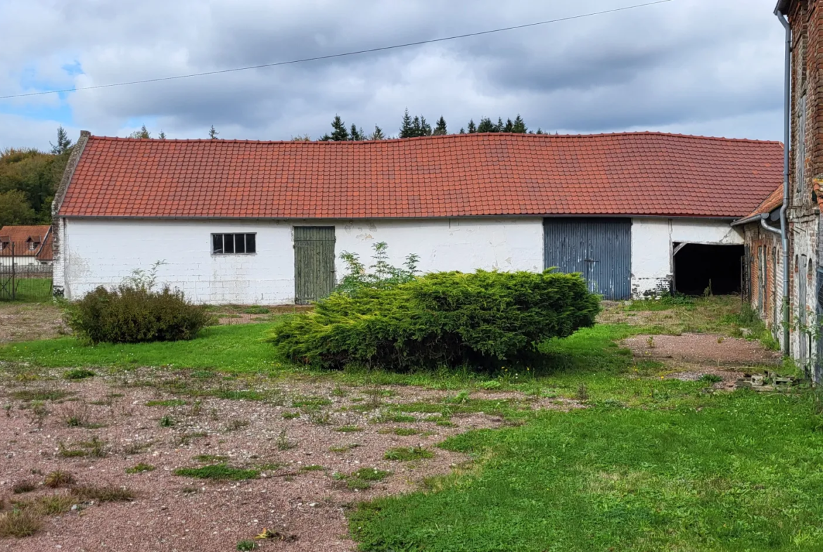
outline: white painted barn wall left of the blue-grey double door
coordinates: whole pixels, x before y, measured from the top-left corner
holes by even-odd
[[[388,244],[390,262],[409,253],[421,271],[477,268],[542,270],[542,219],[432,219],[358,221],[58,221],[62,230],[54,277],[69,299],[98,285],[117,285],[134,268],[164,260],[159,281],[198,303],[290,304],[294,302],[295,225],[334,225],[337,275],[342,251],[370,264],[373,244]],[[253,255],[212,255],[212,233],[257,233]]]

